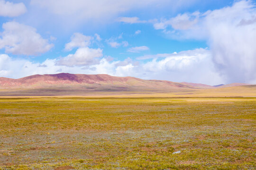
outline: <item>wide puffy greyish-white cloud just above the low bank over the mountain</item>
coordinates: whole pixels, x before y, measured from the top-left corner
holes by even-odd
[[[56,64],[68,67],[94,65],[99,63],[98,58],[100,57],[102,57],[101,49],[83,47],[77,49],[74,54],[69,54],[68,56],[57,60]]]

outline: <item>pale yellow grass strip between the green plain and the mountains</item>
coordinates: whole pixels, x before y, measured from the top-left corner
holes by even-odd
[[[124,88],[81,88],[53,87],[28,89],[0,89],[1,97],[256,97],[256,85],[242,85],[214,89],[179,88],[150,89],[145,87]]]

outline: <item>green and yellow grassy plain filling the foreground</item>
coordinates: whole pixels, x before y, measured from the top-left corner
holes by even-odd
[[[254,170],[256,98],[0,99],[0,170]]]

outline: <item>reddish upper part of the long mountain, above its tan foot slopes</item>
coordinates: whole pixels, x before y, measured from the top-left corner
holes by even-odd
[[[183,83],[164,80],[143,80],[135,77],[117,77],[106,74],[84,75],[60,73],[53,75],[33,75],[19,79],[0,77],[0,88],[42,88],[56,86],[113,86],[113,87],[178,87],[193,88]]]

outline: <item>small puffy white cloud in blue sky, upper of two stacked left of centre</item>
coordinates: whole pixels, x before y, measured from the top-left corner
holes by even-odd
[[[73,48],[76,48],[76,47],[87,47],[91,44],[91,40],[92,40],[91,36],[85,36],[81,33],[74,33],[71,37],[71,42],[68,42],[65,44],[65,50],[71,51],[73,50]]]

